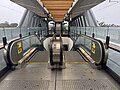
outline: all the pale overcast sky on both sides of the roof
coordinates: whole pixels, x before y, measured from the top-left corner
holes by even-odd
[[[96,19],[99,22],[104,21],[108,24],[120,25],[120,0],[110,2],[109,0],[97,5],[93,8]],[[10,0],[0,0],[0,22],[16,22],[19,23],[24,13],[24,8],[14,4]]]

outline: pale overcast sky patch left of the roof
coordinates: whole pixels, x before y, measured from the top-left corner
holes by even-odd
[[[0,0],[0,23],[19,23],[25,9],[10,0]]]

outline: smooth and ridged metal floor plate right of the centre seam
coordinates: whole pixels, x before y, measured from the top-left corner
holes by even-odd
[[[104,70],[90,65],[67,65],[57,72],[56,90],[120,90]]]

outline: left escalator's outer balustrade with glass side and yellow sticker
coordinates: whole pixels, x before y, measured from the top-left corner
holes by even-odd
[[[25,56],[28,57],[29,52],[34,52],[40,45],[41,42],[36,35],[13,40],[5,47],[5,60],[8,65],[18,65],[19,62],[24,61]]]

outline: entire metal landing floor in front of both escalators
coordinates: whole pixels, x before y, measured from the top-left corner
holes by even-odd
[[[83,62],[81,59],[78,61]],[[87,63],[66,64],[65,69],[54,71],[48,69],[47,63],[34,63],[9,72],[1,81],[0,90],[120,90],[120,87],[104,70]]]

